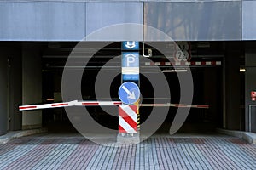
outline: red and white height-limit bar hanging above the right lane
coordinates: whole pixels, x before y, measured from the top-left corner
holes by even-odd
[[[221,65],[221,61],[145,62],[145,65]]]

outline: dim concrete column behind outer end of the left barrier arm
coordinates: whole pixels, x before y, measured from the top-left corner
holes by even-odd
[[[42,74],[40,47],[30,43],[22,48],[22,103],[42,103]],[[22,129],[42,127],[42,111],[24,111]]]

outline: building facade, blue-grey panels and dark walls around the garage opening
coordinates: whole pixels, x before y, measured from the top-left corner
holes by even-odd
[[[255,133],[255,101],[251,99],[251,92],[256,91],[255,8],[256,2],[251,0],[0,1],[0,134],[42,127],[41,111],[21,113],[18,106],[43,102],[45,46],[127,38],[164,41],[152,35],[148,27],[162,31],[175,42],[221,44],[221,89],[214,89],[222,96],[221,105],[214,106],[215,112],[221,112],[218,127]],[[126,27],[131,23],[140,29]],[[90,37],[119,25],[125,25],[119,34],[103,32]],[[246,71],[241,73],[241,67]]]

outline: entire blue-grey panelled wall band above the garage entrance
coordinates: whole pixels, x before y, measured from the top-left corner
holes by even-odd
[[[153,26],[176,41],[255,40],[255,8],[245,0],[0,1],[0,41],[80,41],[123,23]]]

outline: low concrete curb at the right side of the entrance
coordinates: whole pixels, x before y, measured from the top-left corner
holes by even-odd
[[[243,131],[235,131],[235,130],[226,130],[222,128],[217,128],[216,131],[218,133],[227,134],[230,136],[235,136],[240,139],[246,140],[250,144],[256,144],[256,133],[248,133]]]

